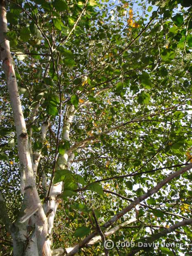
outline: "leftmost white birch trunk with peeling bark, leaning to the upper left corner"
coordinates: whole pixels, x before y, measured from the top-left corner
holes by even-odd
[[[42,240],[38,242],[38,251],[45,256],[50,255],[50,248],[46,247],[47,243],[47,218],[43,211],[41,201],[39,199],[38,191],[36,189],[35,175],[32,169],[30,149],[28,143],[28,134],[26,131],[26,123],[24,120],[24,115],[21,107],[21,101],[19,97],[17,80],[15,76],[14,66],[12,64],[12,57],[10,53],[9,41],[5,38],[5,33],[7,32],[7,19],[6,19],[6,9],[3,5],[0,5],[0,59],[2,60],[3,70],[5,72],[5,77],[7,81],[7,88],[9,92],[10,102],[13,111],[13,118],[17,133],[18,142],[18,152],[20,161],[20,171],[21,171],[21,189],[24,192],[25,207],[29,210],[30,207],[36,208],[39,205],[38,216],[40,220],[40,225],[42,227],[41,236]],[[12,228],[12,237],[14,251],[22,251],[24,249],[24,244],[26,243],[26,230],[22,227],[24,224],[15,224],[15,228]],[[22,244],[22,246],[21,246]],[[36,248],[36,243],[33,243],[33,252]],[[31,245],[32,246],[32,245]],[[21,248],[22,247],[22,248]],[[32,248],[30,247],[30,250]],[[30,253],[30,252],[29,252]],[[25,252],[28,256],[28,251]],[[21,255],[20,252],[15,255]],[[34,254],[33,254],[34,255]],[[36,256],[36,255],[34,255]],[[37,254],[38,256],[38,254]]]

